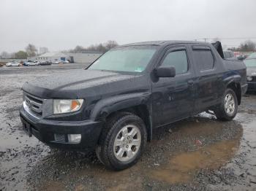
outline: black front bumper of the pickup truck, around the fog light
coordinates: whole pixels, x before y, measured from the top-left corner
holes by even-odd
[[[59,121],[37,119],[28,114],[23,106],[20,108],[20,118],[30,126],[31,134],[51,147],[71,150],[94,149],[102,130],[102,122],[86,121]],[[64,135],[64,141],[56,140],[54,134]],[[68,134],[80,134],[79,144],[70,143]]]

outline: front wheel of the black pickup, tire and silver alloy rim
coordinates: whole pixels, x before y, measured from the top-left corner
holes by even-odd
[[[120,112],[105,123],[97,144],[97,157],[111,170],[129,168],[138,162],[146,147],[146,138],[143,120],[135,114]]]

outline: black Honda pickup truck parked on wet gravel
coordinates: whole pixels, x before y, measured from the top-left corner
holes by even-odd
[[[128,168],[153,128],[205,111],[219,120],[236,116],[246,66],[223,60],[219,44],[125,44],[85,70],[26,82],[23,128],[50,147],[95,149],[108,168]]]

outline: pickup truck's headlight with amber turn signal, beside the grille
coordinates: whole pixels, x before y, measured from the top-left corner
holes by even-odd
[[[53,99],[53,114],[64,114],[78,111],[83,99]]]

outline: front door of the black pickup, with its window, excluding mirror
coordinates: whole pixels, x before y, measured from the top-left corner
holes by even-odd
[[[186,46],[165,52],[157,67],[174,66],[176,77],[160,77],[152,82],[154,126],[189,117],[195,103],[194,71]]]

